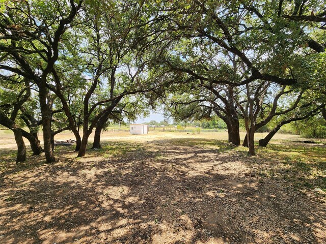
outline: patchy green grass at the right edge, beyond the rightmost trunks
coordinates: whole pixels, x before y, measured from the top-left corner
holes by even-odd
[[[270,144],[258,148],[256,165],[265,177],[285,179],[301,190],[320,188],[326,192],[326,146]]]

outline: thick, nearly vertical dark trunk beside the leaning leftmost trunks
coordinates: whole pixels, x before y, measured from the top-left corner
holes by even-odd
[[[45,158],[47,163],[53,163],[56,162],[56,158],[53,154],[51,146],[51,106],[49,106],[46,102],[47,98],[45,84],[39,85],[39,100],[42,115]]]

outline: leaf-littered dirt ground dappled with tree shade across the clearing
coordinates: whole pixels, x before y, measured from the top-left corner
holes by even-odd
[[[326,243],[325,145],[123,135],[51,165],[2,149],[0,243]]]

